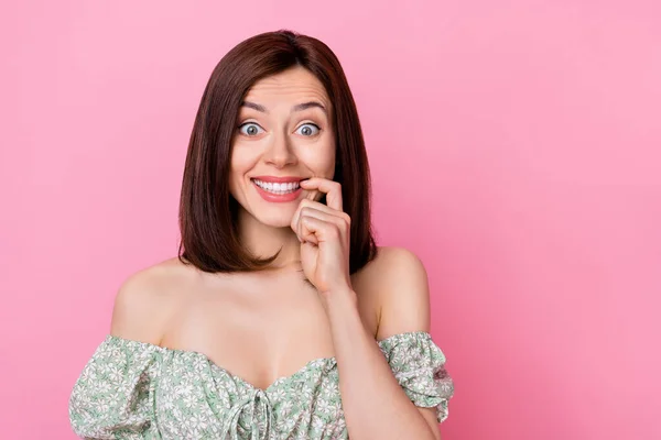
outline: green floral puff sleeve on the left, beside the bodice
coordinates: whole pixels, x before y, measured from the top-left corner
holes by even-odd
[[[83,439],[158,440],[155,345],[108,336],[69,397],[69,422]]]

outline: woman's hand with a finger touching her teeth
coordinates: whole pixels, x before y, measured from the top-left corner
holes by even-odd
[[[301,187],[314,197],[315,189],[326,194],[326,205],[310,198],[301,200],[291,228],[301,241],[301,264],[307,279],[319,294],[351,289],[349,277],[349,215],[342,208],[342,186],[313,177]]]

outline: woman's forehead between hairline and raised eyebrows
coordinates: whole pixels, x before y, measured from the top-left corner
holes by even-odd
[[[274,107],[279,102],[318,100],[329,108],[330,99],[324,85],[306,68],[296,66],[260,79],[248,90],[247,101]]]

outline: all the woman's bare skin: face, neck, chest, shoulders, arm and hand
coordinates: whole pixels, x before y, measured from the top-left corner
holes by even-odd
[[[175,257],[142,270],[118,292],[111,334],[205,353],[262,389],[312,359],[335,356],[351,439],[440,439],[434,409],[410,402],[375,342],[429,331],[426,273],[409,251],[380,248],[349,275],[351,219],[332,180],[323,85],[296,67],[258,81],[245,101],[229,176],[241,240],[257,255],[280,255],[256,273],[206,274]],[[293,110],[305,102],[316,105]],[[259,175],[308,180],[300,199],[274,204],[251,183]]]

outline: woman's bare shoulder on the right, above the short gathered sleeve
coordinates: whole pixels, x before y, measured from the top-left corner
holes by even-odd
[[[380,246],[377,257],[359,272],[355,287],[378,307],[377,339],[430,330],[427,274],[413,252]]]

